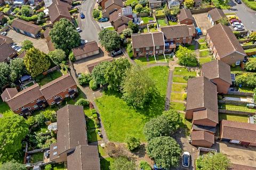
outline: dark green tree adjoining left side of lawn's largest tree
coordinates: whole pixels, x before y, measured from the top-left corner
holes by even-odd
[[[105,79],[108,83],[108,88],[120,90],[121,82],[125,77],[125,72],[131,67],[130,62],[126,58],[119,58],[111,62],[107,67]]]

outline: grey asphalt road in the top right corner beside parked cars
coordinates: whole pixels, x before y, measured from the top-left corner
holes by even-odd
[[[256,11],[247,7],[243,2],[237,4],[235,1],[230,1],[230,10],[223,10],[224,13],[235,12],[239,19],[242,20],[247,30],[256,31]]]

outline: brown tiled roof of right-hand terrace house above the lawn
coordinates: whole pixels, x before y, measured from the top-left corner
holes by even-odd
[[[161,31],[163,31],[166,39],[188,37],[189,36],[188,30],[189,30],[188,25],[186,24],[161,27]]]

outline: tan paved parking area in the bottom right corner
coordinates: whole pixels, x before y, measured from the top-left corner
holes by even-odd
[[[229,142],[216,141],[212,149],[225,154],[234,164],[256,167],[256,148],[243,147]]]

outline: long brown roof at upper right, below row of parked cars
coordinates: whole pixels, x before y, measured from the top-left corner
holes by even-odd
[[[221,23],[214,25],[207,30],[207,33],[220,57],[225,57],[234,52],[246,55],[232,30],[226,25]]]

